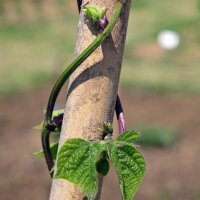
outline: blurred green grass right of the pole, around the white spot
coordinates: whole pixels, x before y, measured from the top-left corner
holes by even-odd
[[[145,9],[135,6],[130,15],[122,85],[158,93],[199,94],[200,13],[197,1],[183,5],[181,0],[153,0],[151,3],[143,0],[142,4],[146,5]],[[132,6],[134,8],[134,2]],[[178,32],[181,43],[177,49],[169,51],[159,47],[157,35],[163,29]]]

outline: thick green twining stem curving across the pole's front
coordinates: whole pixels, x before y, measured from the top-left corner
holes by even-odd
[[[79,3],[80,1],[78,1]],[[44,126],[42,129],[42,146],[43,151],[45,154],[45,159],[48,165],[48,169],[51,172],[51,176],[53,176],[52,168],[54,166],[54,162],[51,156],[50,151],[50,145],[49,145],[49,136],[50,136],[50,129],[51,126],[54,126],[52,122],[52,113],[54,109],[54,105],[57,99],[57,96],[63,87],[66,80],[69,78],[69,76],[83,63],[83,61],[89,57],[98,47],[103,43],[103,41],[106,39],[106,37],[111,33],[112,29],[114,28],[119,15],[121,13],[121,10],[123,8],[123,5],[125,3],[125,0],[120,0],[116,4],[116,8],[114,10],[114,14],[107,25],[107,27],[104,29],[103,33],[100,33],[96,39],[65,69],[65,71],[62,73],[62,75],[59,77],[57,82],[55,83],[49,100],[48,105],[46,109],[45,119],[44,119]]]

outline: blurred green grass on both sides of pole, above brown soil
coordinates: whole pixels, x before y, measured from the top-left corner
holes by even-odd
[[[59,1],[57,7],[59,15],[44,18],[38,13],[33,22],[22,17],[17,24],[7,24],[0,17],[0,97],[40,86],[57,77],[72,60],[77,8],[70,7],[70,1]],[[199,93],[198,8],[199,0],[132,2],[123,86],[159,93]],[[177,49],[167,51],[158,46],[156,37],[163,29],[180,34]]]

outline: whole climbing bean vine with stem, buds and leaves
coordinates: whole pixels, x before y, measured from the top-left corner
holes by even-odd
[[[104,123],[101,127],[102,140],[69,139],[58,151],[58,141],[50,145],[49,137],[51,132],[60,134],[63,110],[54,111],[54,105],[69,76],[110,35],[125,2],[126,0],[117,2],[114,14],[109,21],[106,16],[107,8],[97,8],[90,5],[89,2],[80,7],[82,1],[78,1],[79,10],[82,8],[85,18],[93,25],[98,35],[66,68],[55,83],[49,97],[45,119],[39,126],[42,129],[43,149],[35,154],[45,157],[51,177],[65,179],[80,186],[89,200],[93,200],[97,194],[98,175],[105,176],[109,171],[110,164],[118,174],[123,199],[133,199],[146,168],[144,158],[134,144],[140,133],[135,130],[126,131],[123,109],[117,96],[115,109],[121,135],[116,140],[112,140],[113,129],[111,124]],[[56,158],[57,164],[54,166]]]

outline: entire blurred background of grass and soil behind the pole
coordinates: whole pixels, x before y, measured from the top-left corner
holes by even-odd
[[[73,59],[71,0],[0,1],[0,198],[48,199],[33,130],[52,84]],[[120,80],[128,128],[147,173],[137,200],[200,200],[200,0],[134,0]],[[58,105],[63,106],[65,89]],[[113,172],[102,199],[120,200]]]

